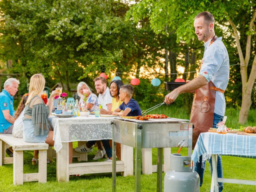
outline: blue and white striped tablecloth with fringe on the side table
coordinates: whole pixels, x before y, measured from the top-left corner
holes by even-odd
[[[191,156],[193,162],[198,162],[203,155],[203,161],[212,154],[256,158],[256,136],[238,134],[201,133]]]

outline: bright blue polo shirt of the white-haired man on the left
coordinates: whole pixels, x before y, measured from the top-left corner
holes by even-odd
[[[4,130],[8,129],[12,124],[8,122],[4,118],[3,110],[9,110],[10,115],[14,116],[14,108],[13,108],[13,97],[10,94],[3,90],[0,93],[0,132],[4,132]]]

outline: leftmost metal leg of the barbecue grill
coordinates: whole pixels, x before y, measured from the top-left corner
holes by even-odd
[[[112,192],[116,192],[116,142],[114,141],[114,123],[112,124]]]

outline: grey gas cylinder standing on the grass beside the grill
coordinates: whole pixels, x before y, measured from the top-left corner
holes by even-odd
[[[191,167],[191,158],[171,154],[171,170],[164,175],[164,192],[200,192],[200,177]]]

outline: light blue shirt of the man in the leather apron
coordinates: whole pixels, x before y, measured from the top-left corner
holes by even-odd
[[[226,90],[229,78],[228,51],[222,42],[222,37],[210,44],[208,40],[204,44],[204,62],[199,74],[204,76],[208,82],[212,81],[217,88]],[[224,94],[216,91],[214,113],[224,116],[226,102]]]

